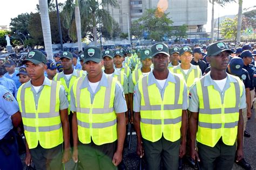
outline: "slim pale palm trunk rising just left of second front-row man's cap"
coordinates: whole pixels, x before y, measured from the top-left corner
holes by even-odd
[[[76,28],[77,28],[77,44],[78,44],[78,51],[83,51],[82,48],[82,36],[81,36],[81,18],[80,18],[80,10],[78,6],[78,0],[76,0],[75,6],[75,18],[76,18]]]

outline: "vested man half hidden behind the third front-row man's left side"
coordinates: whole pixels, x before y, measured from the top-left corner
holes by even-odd
[[[152,69],[152,53],[151,49],[143,49],[141,51],[140,61],[142,62],[142,67],[137,70],[134,70],[129,78],[129,93],[130,93],[130,111],[131,111],[131,119],[130,123],[133,124],[133,92],[134,86],[137,84],[140,77],[148,75]]]

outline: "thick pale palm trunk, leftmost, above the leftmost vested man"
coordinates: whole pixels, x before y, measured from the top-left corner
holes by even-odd
[[[47,58],[53,60],[52,55],[52,42],[51,42],[51,26],[48,12],[48,2],[47,0],[39,0],[41,24],[43,29],[44,37],[44,48],[47,53]]]

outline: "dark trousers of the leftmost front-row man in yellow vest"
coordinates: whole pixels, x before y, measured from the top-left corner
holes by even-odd
[[[63,169],[62,151],[62,144],[50,149],[45,149],[38,143],[36,148],[30,149],[31,157],[37,170]]]

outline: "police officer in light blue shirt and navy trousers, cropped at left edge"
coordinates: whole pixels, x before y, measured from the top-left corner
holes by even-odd
[[[15,133],[12,130],[21,122],[16,99],[8,89],[0,85],[0,169],[23,169]]]

